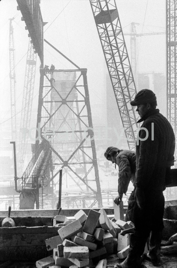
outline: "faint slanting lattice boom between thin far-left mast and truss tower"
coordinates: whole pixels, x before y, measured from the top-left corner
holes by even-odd
[[[28,142],[28,131],[31,120],[35,72],[36,53],[34,53],[33,44],[31,43],[31,39],[29,38],[19,137],[18,174],[20,175],[23,171],[24,158]]]

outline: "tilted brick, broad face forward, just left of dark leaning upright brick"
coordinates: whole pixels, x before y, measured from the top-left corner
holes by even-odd
[[[58,233],[61,237],[62,240],[65,238],[69,238],[73,235],[76,235],[80,231],[82,231],[82,225],[78,220],[71,222],[70,224],[62,227],[61,229],[58,230]],[[60,243],[59,243],[60,244]]]

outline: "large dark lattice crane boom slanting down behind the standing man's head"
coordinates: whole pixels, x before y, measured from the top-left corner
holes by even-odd
[[[133,150],[136,144],[137,117],[135,107],[130,105],[130,101],[134,99],[137,92],[116,2],[115,0],[90,0],[90,4],[128,146]]]

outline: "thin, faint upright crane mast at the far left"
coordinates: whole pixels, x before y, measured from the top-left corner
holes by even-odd
[[[10,103],[11,103],[11,132],[12,140],[17,139],[17,122],[16,122],[16,79],[15,79],[15,48],[14,48],[14,38],[13,38],[13,26],[12,20],[10,18],[10,28],[9,28],[9,64],[10,64]]]

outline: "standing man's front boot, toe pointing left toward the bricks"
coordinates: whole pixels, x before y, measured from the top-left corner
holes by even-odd
[[[141,268],[141,255],[144,252],[148,234],[135,232],[130,236],[130,248],[127,258],[122,263],[116,263],[114,268]]]

